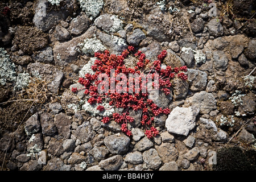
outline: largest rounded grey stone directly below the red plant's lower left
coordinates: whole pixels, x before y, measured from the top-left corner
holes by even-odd
[[[124,134],[114,134],[106,137],[104,143],[112,154],[125,154],[129,148],[130,138]]]

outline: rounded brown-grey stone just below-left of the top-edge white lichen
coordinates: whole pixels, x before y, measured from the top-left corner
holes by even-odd
[[[71,20],[69,30],[71,35],[80,35],[89,28],[89,18],[86,15],[79,15]]]

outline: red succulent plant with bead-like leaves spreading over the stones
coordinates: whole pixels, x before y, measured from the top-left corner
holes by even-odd
[[[97,110],[105,110],[105,107],[101,105],[102,102],[109,102],[110,106],[123,109],[122,113],[113,113],[112,116],[103,117],[101,120],[103,123],[110,121],[120,123],[123,133],[131,136],[128,123],[134,122],[134,118],[129,115],[129,111],[142,110],[141,125],[145,128],[145,135],[152,138],[159,134],[154,127],[154,117],[161,113],[169,114],[170,109],[159,107],[148,99],[148,95],[151,91],[159,90],[169,95],[172,78],[179,77],[187,80],[188,77],[184,73],[187,72],[187,67],[167,66],[162,69],[162,61],[167,55],[166,50],[163,50],[157,56],[158,60],[155,61],[146,59],[141,51],[134,52],[133,46],[129,46],[121,55],[110,55],[108,50],[103,53],[95,52],[96,60],[91,67],[94,74],[86,73],[84,77],[79,78],[79,83],[84,86],[82,89],[89,97],[87,102],[90,105],[100,104]],[[130,59],[137,60],[133,68],[125,65],[125,61]],[[152,82],[153,78],[154,82]],[[79,91],[77,88],[72,88],[72,92],[77,91]]]

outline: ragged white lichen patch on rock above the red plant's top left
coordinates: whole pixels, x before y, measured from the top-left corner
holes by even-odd
[[[91,39],[85,39],[84,43],[79,44],[82,47],[82,52],[94,55],[94,52],[105,51],[107,48],[96,37]]]

